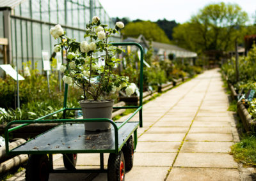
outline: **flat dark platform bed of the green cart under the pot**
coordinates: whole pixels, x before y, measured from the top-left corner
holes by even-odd
[[[116,126],[122,122],[115,122]],[[118,130],[118,148],[124,145],[140,122],[127,122]],[[108,131],[84,131],[82,123],[66,123],[40,134],[36,138],[14,148],[12,154],[56,153],[111,153],[115,152],[115,129]]]

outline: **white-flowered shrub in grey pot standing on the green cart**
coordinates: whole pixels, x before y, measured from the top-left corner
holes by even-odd
[[[103,94],[113,94],[121,89],[131,96],[136,85],[129,83],[127,76],[119,76],[113,72],[116,64],[116,54],[124,49],[109,44],[109,38],[118,33],[124,24],[116,22],[115,28],[100,24],[99,17],[93,17],[92,22],[86,25],[85,40],[77,42],[68,38],[61,25],[50,30],[54,38],[61,38],[61,43],[54,46],[54,52],[65,49],[67,63],[60,71],[63,81],[76,89],[83,89],[83,100],[79,101],[84,119],[107,118],[111,119],[113,99],[104,99]],[[106,130],[111,127],[109,122],[86,122],[88,131]]]

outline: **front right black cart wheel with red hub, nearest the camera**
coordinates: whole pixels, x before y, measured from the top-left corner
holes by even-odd
[[[125,178],[125,159],[120,151],[116,154],[109,154],[108,158],[108,181],[124,181]]]

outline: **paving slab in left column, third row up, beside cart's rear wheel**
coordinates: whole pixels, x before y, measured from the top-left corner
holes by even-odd
[[[181,142],[140,142],[136,148],[138,152],[177,152]]]

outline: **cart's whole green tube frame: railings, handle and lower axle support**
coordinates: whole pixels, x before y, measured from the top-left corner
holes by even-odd
[[[120,106],[120,107],[113,107],[113,109],[134,109],[136,110],[130,115],[124,122],[113,122],[111,119],[65,119],[66,118],[66,112],[69,110],[81,110],[81,108],[67,108],[67,96],[68,96],[68,85],[67,83],[65,84],[65,92],[64,92],[64,101],[63,101],[63,108],[60,110],[50,113],[48,115],[45,115],[44,117],[40,117],[35,120],[13,120],[12,122],[8,123],[5,131],[4,131],[4,136],[5,136],[5,144],[6,144],[6,154],[49,154],[49,162],[50,162],[50,168],[49,171],[50,173],[102,173],[102,172],[107,172],[108,170],[104,169],[104,153],[115,153],[118,154],[120,150],[122,150],[122,147],[125,145],[126,141],[129,139],[129,137],[134,134],[134,149],[136,148],[138,138],[137,138],[137,129],[138,126],[143,127],[143,122],[142,122],[142,103],[143,103],[143,47],[139,43],[109,43],[113,46],[136,46],[140,49],[140,104],[138,106]],[[63,112],[63,119],[47,119],[47,117],[54,115],[56,113]],[[140,121],[139,122],[129,122],[129,120],[136,115],[136,113],[140,114]],[[42,136],[44,134],[49,133],[50,131],[56,129],[59,126],[56,126],[49,131],[46,131],[45,133],[39,134],[35,138],[32,138],[28,140],[26,143],[20,145],[19,147],[13,148],[12,150],[9,150],[9,133],[12,133],[13,131],[16,131],[17,129],[20,129],[24,126],[28,126],[29,124],[46,124],[46,123],[62,123],[60,124],[81,124],[83,122],[109,122],[112,124],[114,128],[114,133],[115,133],[115,148],[114,149],[108,149],[108,150],[72,150],[72,149],[67,149],[67,150],[25,150],[25,151],[15,151],[16,149],[19,149],[22,147],[22,145],[26,146],[26,143],[29,143],[39,136]],[[19,126],[12,127],[12,124],[20,124]],[[127,126],[129,124],[132,124],[132,129],[129,134],[126,135],[126,138],[124,138],[123,141],[118,141],[118,132],[120,132],[120,129],[124,126]],[[121,143],[122,142],[122,143]],[[77,154],[77,153],[99,153],[100,154],[100,169],[87,169],[87,170],[54,170],[53,169],[53,163],[52,163],[52,154]]]

